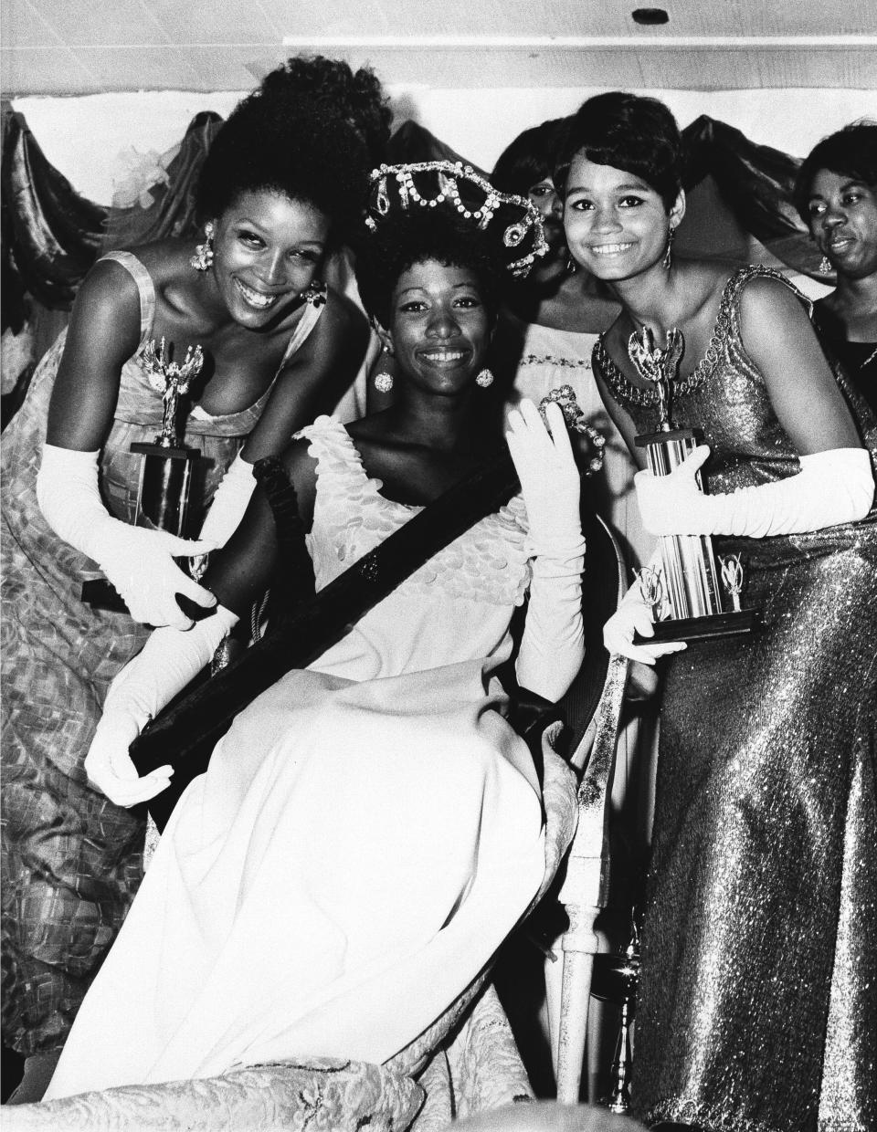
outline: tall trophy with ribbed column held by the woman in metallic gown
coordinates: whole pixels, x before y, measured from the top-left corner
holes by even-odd
[[[648,327],[631,334],[628,342],[630,360],[639,376],[654,385],[657,396],[658,430],[637,437],[637,446],[646,449],[646,462],[655,475],[669,475],[704,438],[699,429],[673,428],[671,420],[673,381],[683,350],[684,338],[676,327],[667,332],[665,349],[655,345]],[[703,490],[699,472],[697,483]],[[658,547],[661,565],[638,574],[642,598],[652,607],[655,635],[637,635],[637,644],[749,633],[758,624],[759,611],[740,604],[743,568],[739,555],[720,559],[720,574],[708,534],[665,534],[658,539]],[[730,609],[722,583],[731,598]]]

